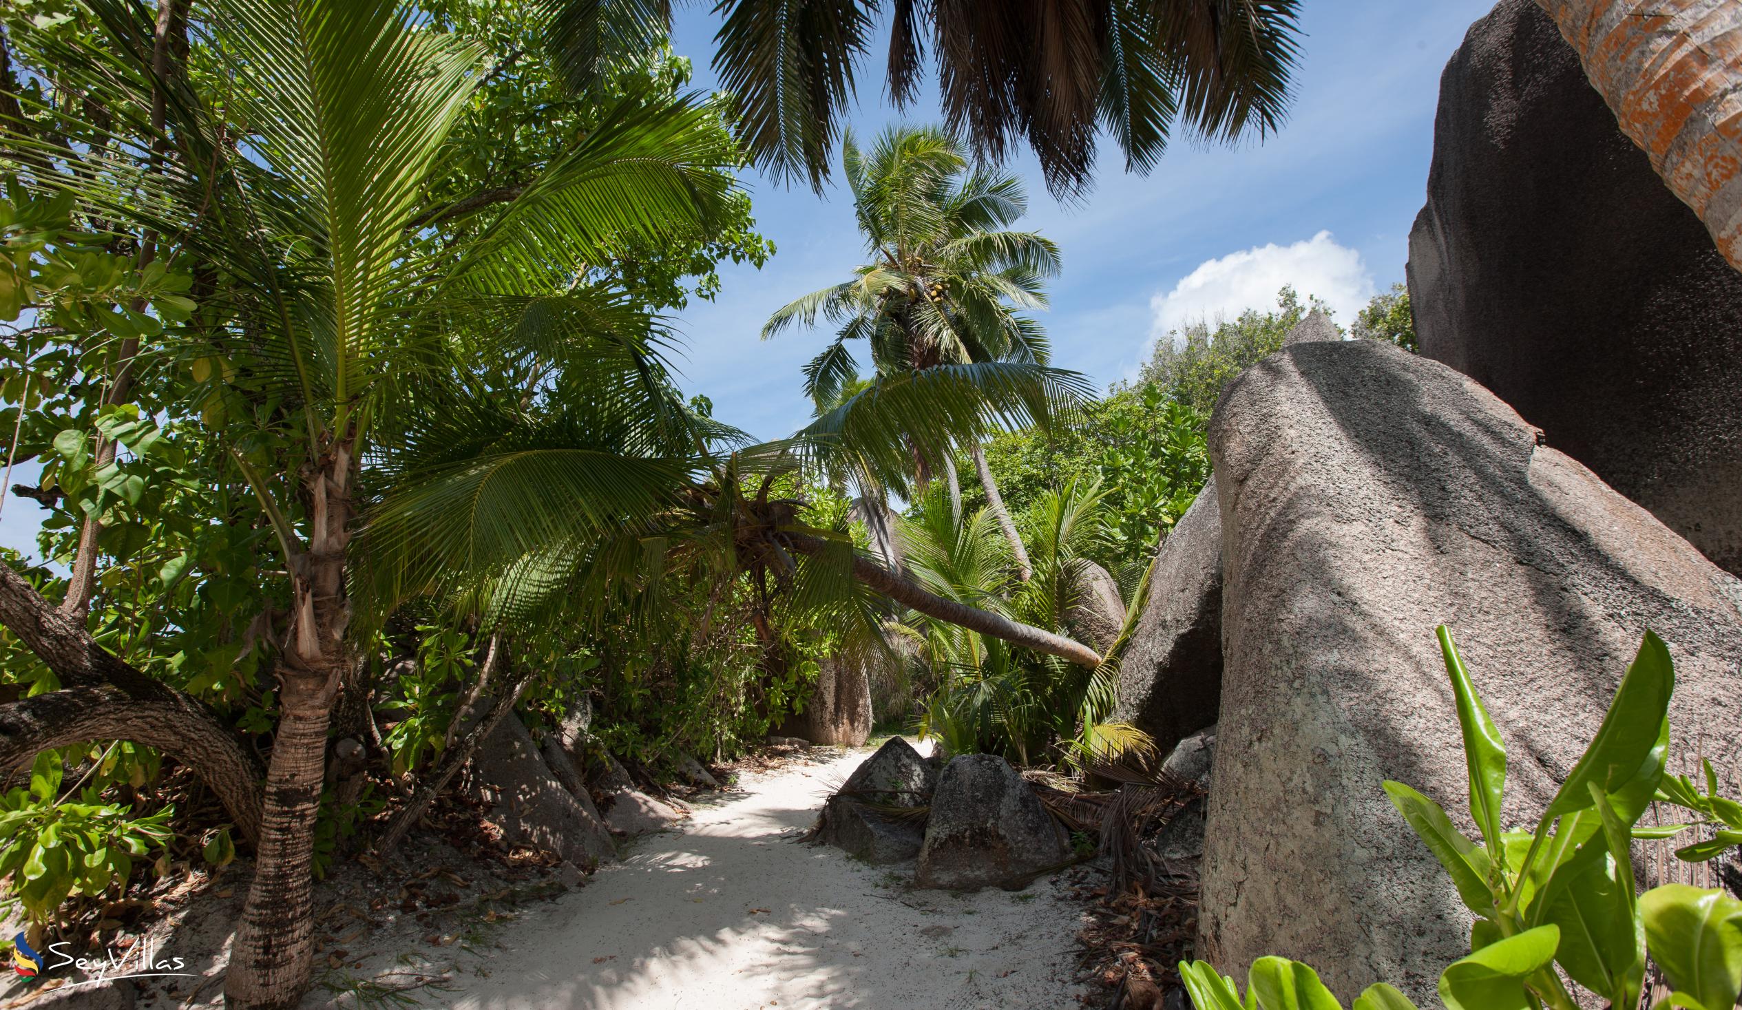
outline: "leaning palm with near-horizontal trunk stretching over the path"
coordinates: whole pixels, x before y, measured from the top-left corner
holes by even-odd
[[[660,371],[652,360],[645,367]],[[584,381],[617,385],[594,374]],[[364,529],[362,556],[381,587],[371,592],[458,597],[490,585],[502,601],[495,620],[575,622],[613,604],[658,608],[665,575],[709,585],[768,571],[793,606],[840,609],[868,632],[881,625],[881,601],[894,599],[1096,667],[1092,648],[939,596],[859,554],[845,529],[805,522],[805,502],[768,496],[772,479],[796,467],[852,472],[862,486],[899,484],[911,453],[941,456],[956,432],[988,416],[1009,427],[1047,425],[1087,394],[1082,376],[1040,364],[939,366],[866,383],[791,439],[768,444],[662,411],[653,395],[613,397],[610,414],[591,414],[571,394],[535,409],[488,409],[467,402],[472,394],[456,395],[401,453],[394,468],[402,477]],[[658,474],[669,482],[641,510],[589,517],[573,507],[598,498],[589,489],[599,484]]]

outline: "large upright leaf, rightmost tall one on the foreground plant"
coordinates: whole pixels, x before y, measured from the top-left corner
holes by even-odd
[[[1676,690],[1676,669],[1669,646],[1646,630],[1622,684],[1610,702],[1603,726],[1590,747],[1561,784],[1545,817],[1559,817],[1590,806],[1594,782],[1622,822],[1632,825],[1650,806],[1664,777],[1669,752],[1669,697]]]

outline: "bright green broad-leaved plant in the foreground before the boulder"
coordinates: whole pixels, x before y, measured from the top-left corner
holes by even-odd
[[[1502,827],[1505,745],[1444,627],[1439,643],[1458,705],[1470,818],[1481,841],[1460,832],[1444,808],[1415,789],[1387,782],[1385,792],[1475,912],[1470,956],[1439,979],[1446,1007],[1577,1010],[1582,1003],[1566,986],[1570,979],[1611,1008],[1631,1010],[1644,987],[1648,954],[1674,986],[1657,1010],[1733,1007],[1742,991],[1742,902],[1721,890],[1674,883],[1639,895],[1634,881],[1634,838],[1672,838],[1695,827],[1637,827],[1653,801],[1698,813],[1700,825],[1723,825],[1712,839],[1678,850],[1685,860],[1714,858],[1742,841],[1742,806],[1718,796],[1711,763],[1704,764],[1704,794],[1691,780],[1664,771],[1676,688],[1664,641],[1644,632],[1596,738],[1531,832]],[[1205,961],[1181,963],[1179,973],[1198,1010],[1341,1008],[1312,968],[1286,958],[1252,965],[1244,1001],[1233,980]],[[1367,987],[1355,1001],[1355,1010],[1406,1007],[1415,1005],[1385,984]]]

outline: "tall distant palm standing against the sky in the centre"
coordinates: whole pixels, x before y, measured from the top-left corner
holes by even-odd
[[[763,326],[763,340],[787,326],[814,326],[819,313],[840,326],[805,366],[805,392],[819,409],[857,376],[852,340],[871,345],[878,374],[974,360],[1045,364],[1045,336],[1019,310],[1045,305],[1042,280],[1059,272],[1059,251],[1038,233],[1009,230],[1028,209],[1021,179],[967,172],[962,146],[937,129],[890,129],[869,152],[848,136],[841,160],[871,263],[854,268],[854,280],[786,305]],[[1017,573],[1028,580],[1028,550],[977,437],[969,439],[969,454]],[[939,463],[916,461],[922,481]],[[953,460],[941,461],[960,512]]]

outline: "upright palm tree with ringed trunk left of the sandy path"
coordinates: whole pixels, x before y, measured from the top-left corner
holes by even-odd
[[[31,155],[19,160],[33,186],[70,192],[89,212],[148,235],[181,237],[183,247],[164,254],[186,256],[223,280],[207,300],[219,319],[213,340],[244,347],[260,362],[253,381],[263,390],[261,421],[225,439],[277,535],[291,608],[273,670],[279,726],[258,808],[256,874],[226,996],[239,1007],[289,1007],[308,984],[314,954],[310,860],[329,716],[355,667],[354,623],[375,616],[355,613],[348,596],[357,582],[350,542],[369,493],[364,461],[383,435],[411,427],[404,418],[441,407],[420,380],[446,364],[455,319],[549,340],[598,322],[610,306],[577,287],[584,265],[606,261],[629,240],[704,226],[728,197],[735,155],[712,129],[714,113],[683,99],[631,96],[531,185],[430,209],[425,185],[484,77],[483,54],[427,30],[413,7],[218,0],[197,24],[226,78],[221,108],[186,78],[164,80],[153,61],[160,26],[132,3],[92,7],[118,40],[117,77],[132,75],[145,91],[139,104],[160,113],[150,143],[164,157],[143,172],[118,172],[110,148],[30,150],[30,138],[9,141]],[[134,199],[139,188],[150,199]],[[442,240],[430,225],[486,209],[474,218],[486,225],[463,242]],[[631,388],[634,374],[622,376],[636,367],[613,360],[606,355],[592,374],[606,376],[611,390]],[[596,528],[650,512],[678,479],[658,460],[611,456],[601,465],[594,456],[566,458],[598,479],[566,488],[563,505]],[[9,627],[42,625],[33,606],[42,601],[28,590],[16,576],[0,578]],[[125,663],[78,629],[56,641],[23,637],[54,656],[51,667],[68,667],[66,653],[82,650],[75,658],[89,677],[73,690],[89,691],[89,679],[101,677],[125,693]],[[160,707],[172,709],[174,698]],[[99,735],[157,742],[131,728],[103,726]],[[202,775],[226,771],[216,775],[219,789],[233,777],[223,761],[190,764]],[[244,831],[253,824],[237,820]]]

